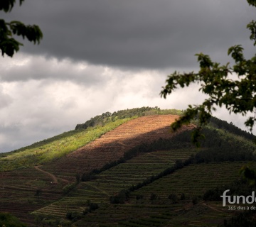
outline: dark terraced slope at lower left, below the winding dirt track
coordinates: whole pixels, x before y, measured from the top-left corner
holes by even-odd
[[[50,175],[35,167],[0,173],[0,212],[10,212],[33,226],[30,212],[63,196],[67,182],[56,184]]]

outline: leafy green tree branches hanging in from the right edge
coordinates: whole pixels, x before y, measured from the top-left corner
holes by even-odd
[[[256,6],[256,0],[247,0],[247,2]],[[251,32],[250,39],[256,45],[256,21],[251,21],[247,28]],[[208,55],[200,53],[196,54],[200,66],[198,72],[181,74],[175,71],[168,76],[166,86],[161,91],[161,96],[164,98],[178,87],[188,87],[192,83],[201,84],[199,91],[209,96],[200,105],[189,105],[186,113],[172,124],[171,128],[174,131],[183,124],[189,123],[195,116],[198,116],[199,127],[206,125],[217,106],[225,106],[230,113],[242,114],[242,116],[255,111],[256,56],[246,60],[241,45],[229,48],[228,55],[235,60],[233,67],[230,67],[229,63],[220,65],[218,62],[213,62]],[[236,75],[238,79],[230,79],[230,74]],[[245,126],[252,131],[255,121],[256,116],[250,116],[245,121]],[[193,134],[194,140],[200,135],[199,129]]]

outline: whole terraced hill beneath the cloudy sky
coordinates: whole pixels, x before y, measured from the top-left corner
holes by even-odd
[[[211,118],[196,148],[196,119],[169,130],[181,114],[158,107],[107,112],[1,154],[0,212],[28,226],[228,225],[235,211],[222,207],[219,189],[250,188],[238,172],[248,161],[256,167],[255,136]]]

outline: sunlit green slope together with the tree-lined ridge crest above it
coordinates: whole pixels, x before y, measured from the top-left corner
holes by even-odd
[[[75,130],[33,143],[32,145],[9,153],[0,153],[0,171],[42,165],[43,163],[57,160],[93,140],[100,138],[101,135],[112,131],[114,128],[117,128],[117,126],[134,118],[138,118],[139,116],[158,114],[181,115],[182,113],[183,111],[175,109],[160,110],[158,107],[127,109],[114,112],[113,114],[107,112],[91,118],[89,121],[86,121],[85,124],[76,126]]]

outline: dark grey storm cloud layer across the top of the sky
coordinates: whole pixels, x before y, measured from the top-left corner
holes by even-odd
[[[6,16],[41,27],[41,44],[25,52],[161,68],[194,67],[197,52],[228,60],[230,45],[247,44],[253,10],[240,0],[26,0]]]

